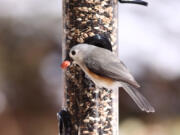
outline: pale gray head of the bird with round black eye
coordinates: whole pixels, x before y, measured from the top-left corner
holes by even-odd
[[[81,63],[88,52],[90,52],[94,46],[88,44],[78,44],[71,48],[69,56],[76,63]]]

